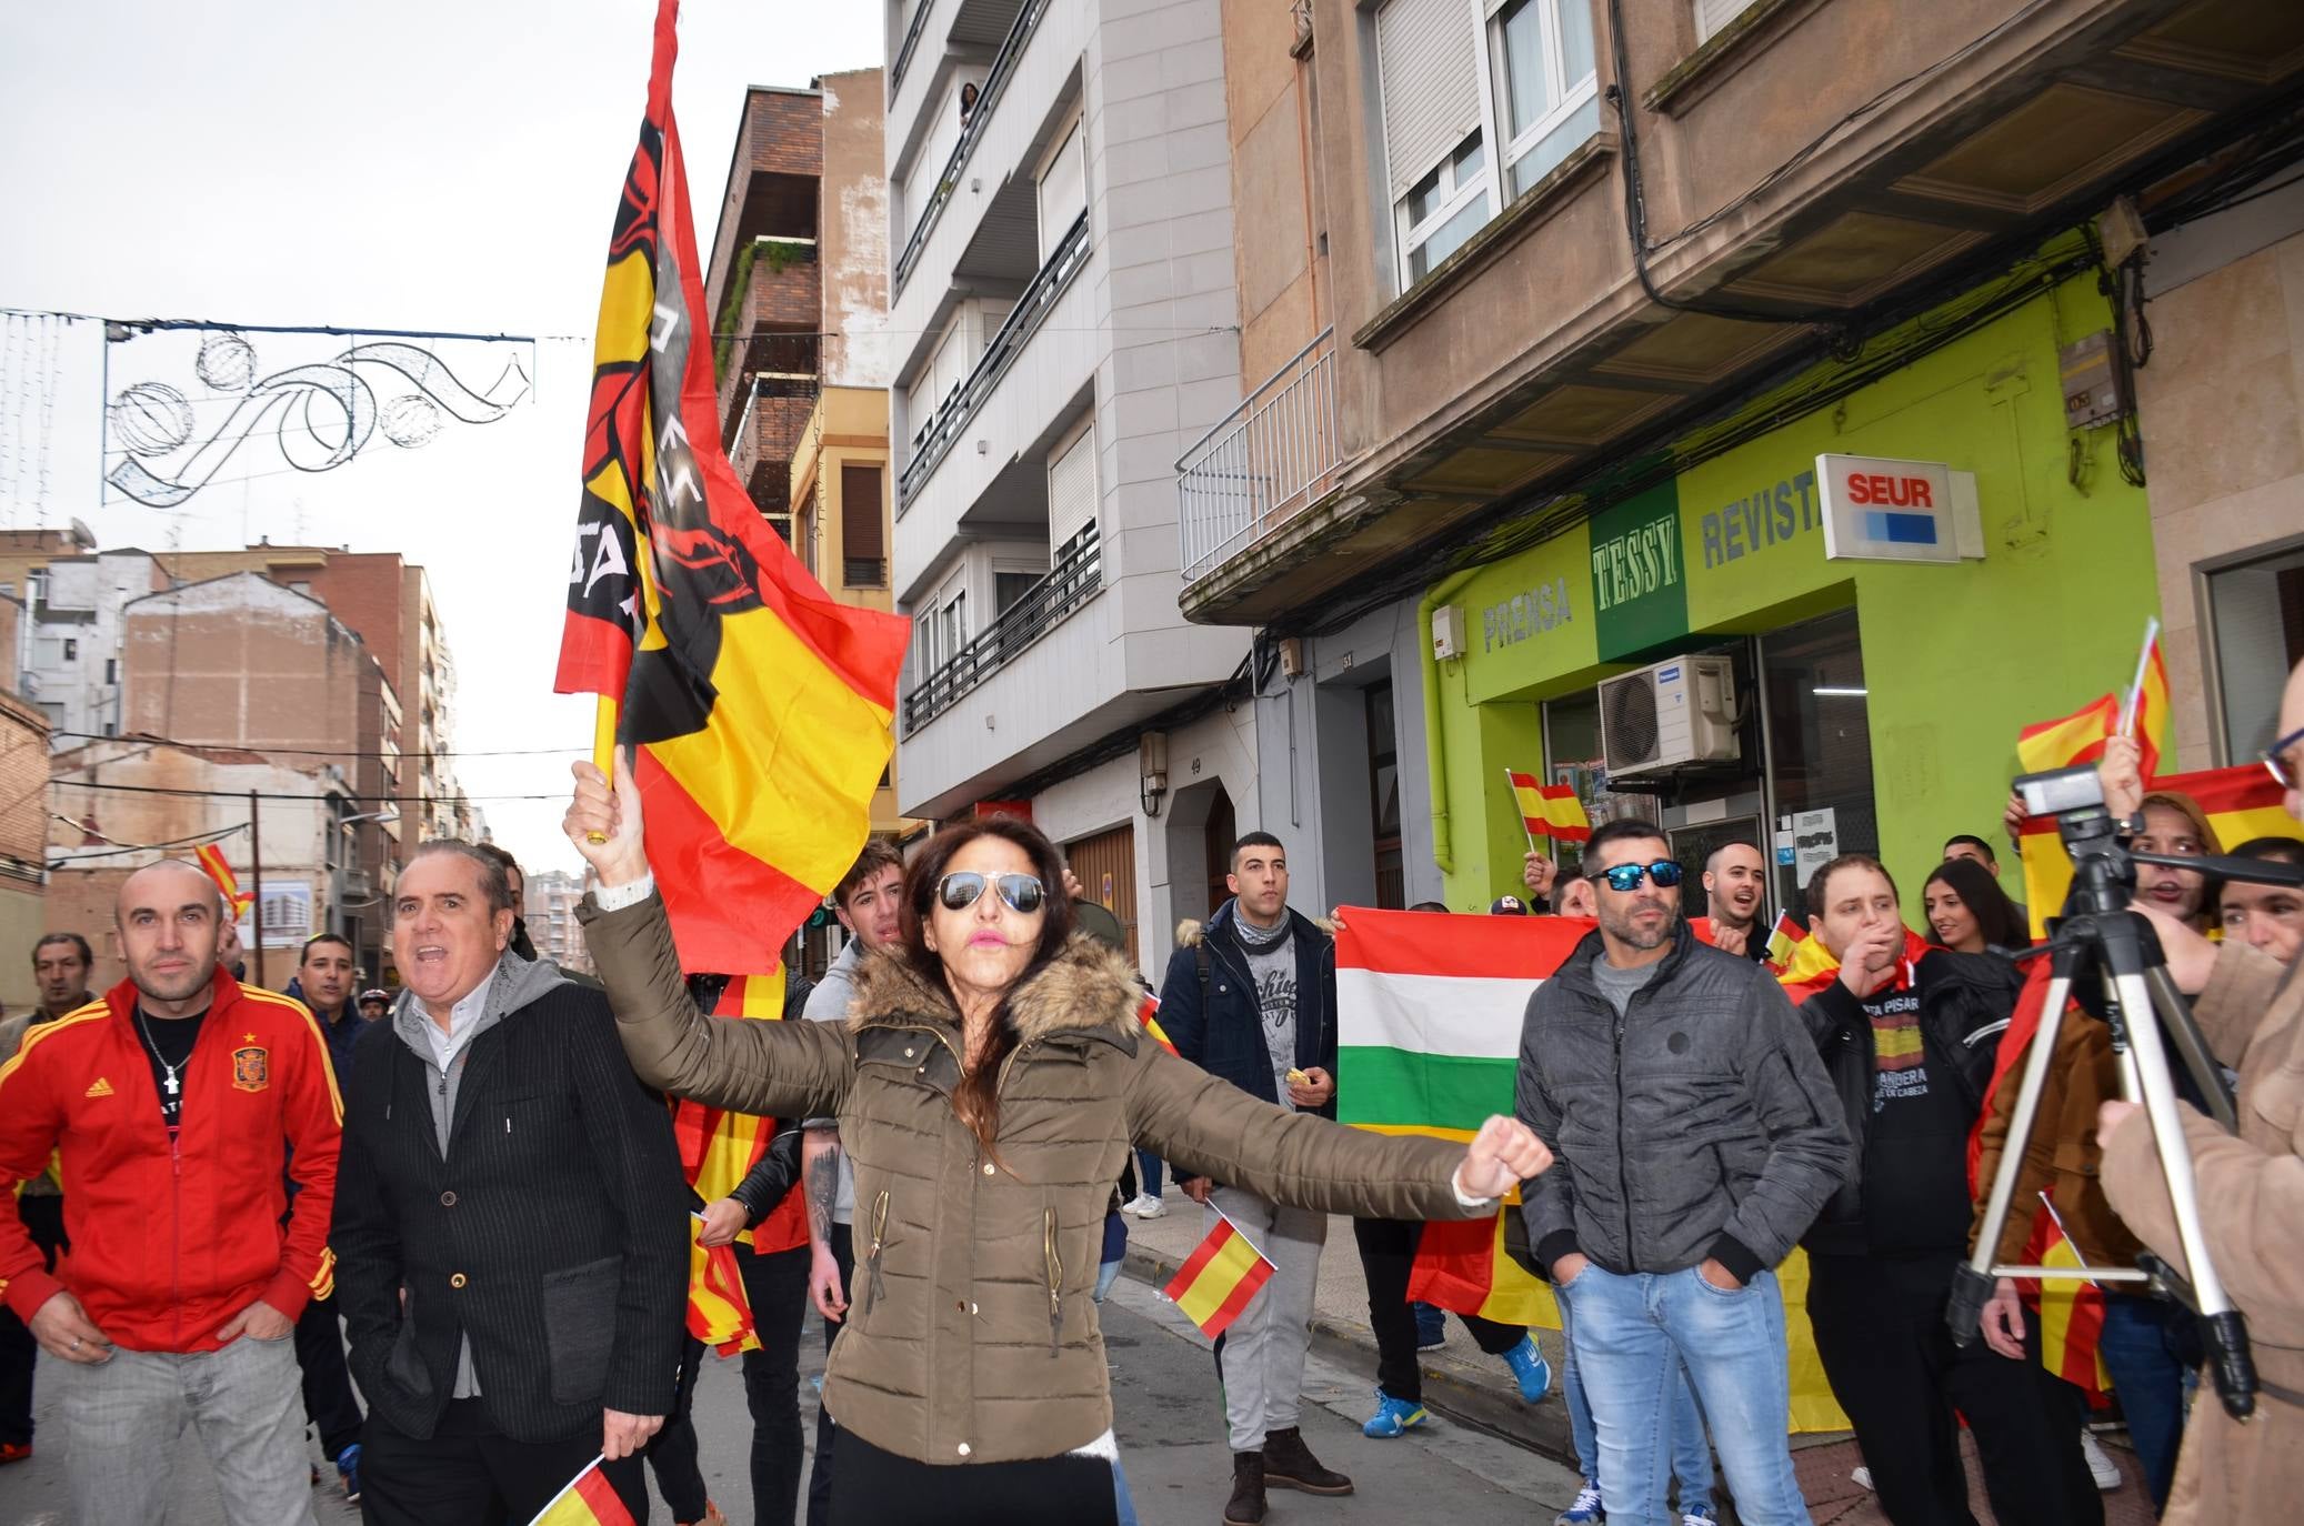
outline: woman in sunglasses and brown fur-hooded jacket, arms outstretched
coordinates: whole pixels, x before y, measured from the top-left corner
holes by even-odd
[[[862,964],[841,1026],[696,1010],[622,758],[613,791],[576,768],[564,830],[599,871],[581,915],[641,1079],[712,1106],[841,1120],[857,1270],[825,1374],[839,1526],[1111,1526],[1092,1291],[1131,1141],[1274,1201],[1394,1219],[1486,1213],[1551,1166],[1509,1118],[1470,1148],[1362,1134],[1150,1042],[1131,966],[1071,936],[1062,864],[1028,823],[929,839],[905,869],[901,945]]]

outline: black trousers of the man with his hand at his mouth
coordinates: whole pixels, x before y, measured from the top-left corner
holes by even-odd
[[[2000,1521],[2101,1526],[2081,1457],[2081,1411],[2032,1353],[2014,1362],[1945,1328],[1958,1252],[1809,1256],[1809,1325],[1832,1395],[1848,1411],[1880,1512],[1896,1526],[1977,1526],[1961,1468],[1968,1418],[1984,1494]]]

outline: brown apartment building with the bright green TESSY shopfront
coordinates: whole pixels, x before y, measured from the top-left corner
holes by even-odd
[[[2147,615],[2200,673],[2193,627],[2288,609],[2295,226],[2256,191],[2297,7],[1221,12],[1265,237],[1244,401],[1177,461],[1182,606],[1279,655],[1267,825],[1320,904],[1511,890],[1514,772],[1691,864],[1753,841],[1779,904],[1827,851],[1917,878]],[[2180,244],[2189,343],[2143,316]],[[2207,731],[2186,761],[2237,756]]]

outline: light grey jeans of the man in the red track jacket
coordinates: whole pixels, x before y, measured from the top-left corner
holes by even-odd
[[[233,1526],[316,1526],[295,1342],[240,1337],[223,1351],[113,1351],[65,1378],[71,1519],[168,1519],[177,1480],[161,1466],[191,1422]]]

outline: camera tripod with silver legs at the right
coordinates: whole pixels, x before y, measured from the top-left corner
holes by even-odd
[[[2060,779],[2060,775],[2034,775],[2018,779],[2018,788],[2032,779]],[[2092,770],[2090,784],[2092,784]],[[1977,1233],[1975,1252],[1954,1272],[1951,1305],[1947,1321],[1951,1339],[1968,1344],[1977,1337],[1984,1305],[2000,1277],[2034,1279],[2083,1279],[2083,1282],[2134,1282],[2163,1298],[2189,1305],[2200,1316],[2203,1346],[2216,1397],[2226,1413],[2246,1420],[2256,1413],[2256,1362],[2249,1355],[2249,1330],[2239,1309],[2233,1307],[2223,1282],[2207,1254],[2207,1238],[2200,1233],[2200,1199],[2191,1171],[2191,1155],[2184,1148],[2184,1130],[2177,1120],[2177,1093],[2168,1072],[2168,1044],[2182,1056],[2198,1095],[2207,1102],[2216,1123],[2237,1132],[2233,1093],[2223,1081],[2223,1070],[2207,1049],[2191,1007],[2175,989],[2168,964],[2161,954],[2152,922],[2129,911],[2136,892],[2136,864],[2163,864],[2193,869],[2223,878],[2304,885],[2304,869],[2251,858],[2173,858],[2161,853],[2131,853],[2120,844],[2120,823],[2104,809],[2101,795],[2081,809],[2057,814],[2057,837],[2071,855],[2071,894],[2064,915],[2051,927],[2051,938],[2034,950],[2051,961],[2046,1005],[2041,1007],[2039,1033],[2032,1035],[2032,1051],[2025,1056],[2023,1086],[2016,1093],[2016,1109],[2009,1132],[2000,1146],[2000,1169],[1993,1176],[1991,1199],[1984,1210],[1984,1226]],[[1995,1266],[2000,1233],[2007,1226],[2016,1176],[2023,1171],[2025,1146],[2039,1118],[2039,1095],[2046,1088],[2048,1070],[2055,1063],[2057,1033],[2067,1021],[2090,1021],[2069,1012],[2074,982],[2097,977],[2104,989],[2106,1021],[2113,1028],[2113,1053],[2120,1063],[2120,1095],[2140,1102],[2152,1125],[2152,1143],[2159,1155],[2161,1180],[2168,1201],[2175,1206],[2177,1242],[2184,1247],[2184,1263],[2191,1270],[2186,1282],[2159,1256],[2138,1256],[2138,1268],[2055,1268],[2055,1266]],[[2166,1044],[2163,1044],[2166,1040]]]

